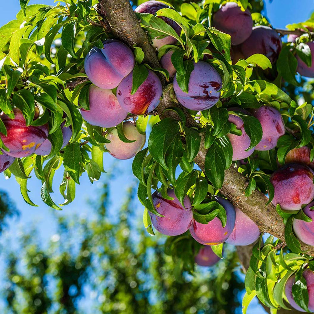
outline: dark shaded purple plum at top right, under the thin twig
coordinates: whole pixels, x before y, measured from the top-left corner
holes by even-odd
[[[241,44],[241,51],[246,58],[261,53],[268,57],[271,63],[275,63],[281,46],[280,36],[275,30],[267,26],[255,26],[251,36]]]

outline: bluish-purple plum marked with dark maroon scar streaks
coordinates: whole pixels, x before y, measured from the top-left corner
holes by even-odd
[[[222,80],[214,67],[204,61],[193,62],[188,93],[179,87],[176,75],[173,89],[180,104],[188,109],[199,111],[213,107],[219,100]]]

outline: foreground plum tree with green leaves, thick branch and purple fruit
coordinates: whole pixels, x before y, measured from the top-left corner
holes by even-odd
[[[0,28],[0,168],[25,202],[33,173],[60,210],[104,153],[135,156],[144,227],[182,270],[227,242],[243,313],[256,295],[314,312],[314,16],[279,30],[260,0],[28,2]]]

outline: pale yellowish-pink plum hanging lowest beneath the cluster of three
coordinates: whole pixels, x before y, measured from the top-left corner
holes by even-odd
[[[111,141],[106,144],[106,149],[116,159],[130,159],[134,157],[143,148],[146,141],[146,133],[139,133],[133,121],[123,122],[123,133],[127,139],[136,141],[132,143],[122,142],[116,128],[106,135],[106,138]]]

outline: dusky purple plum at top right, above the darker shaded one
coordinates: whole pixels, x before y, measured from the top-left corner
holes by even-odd
[[[228,2],[214,14],[213,26],[229,34],[232,45],[239,45],[250,37],[253,20],[248,9],[242,11],[237,3]]]

